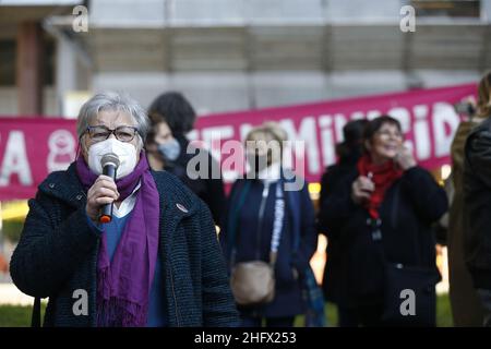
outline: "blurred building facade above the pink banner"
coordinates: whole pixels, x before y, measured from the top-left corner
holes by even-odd
[[[491,67],[491,0],[9,1],[0,76],[16,74],[0,77],[0,115],[73,116],[76,96],[105,89],[144,106],[178,89],[204,115],[474,82]],[[73,29],[76,5],[87,32]],[[400,28],[405,5],[415,32]],[[36,35],[41,107],[25,110]]]

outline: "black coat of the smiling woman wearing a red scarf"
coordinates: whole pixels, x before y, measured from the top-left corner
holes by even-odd
[[[404,172],[385,193],[380,208],[382,242],[374,242],[366,208],[350,198],[356,169],[323,203],[320,226],[339,241],[342,256],[338,303],[356,308],[383,301],[386,262],[435,268],[431,225],[447,209],[445,192],[422,168]]]

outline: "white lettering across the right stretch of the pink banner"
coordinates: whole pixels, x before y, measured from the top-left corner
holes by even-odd
[[[349,115],[324,113],[319,116],[310,115],[306,117],[295,116],[292,118],[272,119],[285,129],[288,134],[288,140],[294,142],[286,145],[284,165],[292,168],[294,161],[296,161],[296,165],[299,164],[298,161],[306,165],[306,159],[308,159],[308,169],[299,169],[298,166],[296,168],[303,173],[307,172],[308,176],[319,176],[326,166],[336,161],[335,146],[336,143],[343,141],[343,128],[348,121],[358,119],[372,120],[382,113],[390,115],[400,122],[403,133],[408,136],[404,144],[415,153],[418,161],[448,156],[450,146],[460,118],[451,104],[438,101],[414,105],[411,107],[395,106],[383,112],[371,109],[366,112],[356,110],[349,112]],[[259,121],[262,122],[265,120]],[[237,157],[229,158],[231,152],[235,155],[239,154],[238,152],[241,151],[240,147],[237,149],[230,146],[224,148],[220,142],[240,139],[240,142],[243,143],[252,125],[250,123],[242,123],[236,125],[236,128],[238,129],[235,129],[233,124],[225,124],[200,130],[201,139],[204,141],[206,147],[211,148],[212,155],[217,160],[225,156],[221,164],[221,174],[226,182],[233,181],[240,176],[236,169],[240,171],[244,168],[238,166],[240,160]],[[200,134],[197,137],[200,137]],[[296,141],[303,141],[304,144],[302,147],[298,147],[297,145],[300,143],[295,143]],[[294,148],[289,148],[291,145]]]

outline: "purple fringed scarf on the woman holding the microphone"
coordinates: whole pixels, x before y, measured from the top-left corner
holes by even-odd
[[[98,177],[82,156],[76,159],[76,172],[85,190]],[[128,197],[139,182],[136,202],[112,261],[109,261],[107,238],[103,233],[97,261],[97,326],[146,325],[158,251],[159,195],[143,152],[133,172],[116,181],[121,200]]]

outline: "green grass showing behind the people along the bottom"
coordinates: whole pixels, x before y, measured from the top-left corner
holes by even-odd
[[[46,304],[43,303],[44,313]],[[31,325],[32,306],[0,305],[0,327],[25,327]],[[337,324],[337,313],[333,304],[326,304],[327,326]],[[303,318],[298,316],[296,326],[302,326]],[[439,296],[436,304],[436,324],[439,327],[452,327],[452,312],[448,294]]]

